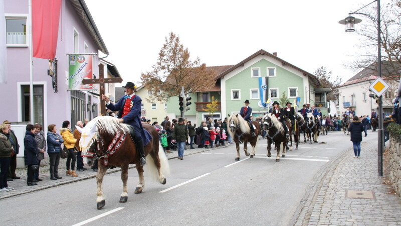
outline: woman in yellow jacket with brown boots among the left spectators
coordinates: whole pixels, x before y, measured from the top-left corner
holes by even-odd
[[[64,140],[64,146],[68,149],[69,155],[67,157],[67,172],[66,175],[71,175],[73,177],[77,177],[78,175],[75,173],[75,143],[77,143],[77,139],[74,138],[74,136],[71,133],[70,129],[70,122],[69,121],[64,121],[63,122],[63,127],[60,129],[61,136],[63,137]],[[71,162],[71,170],[70,170],[70,162]]]

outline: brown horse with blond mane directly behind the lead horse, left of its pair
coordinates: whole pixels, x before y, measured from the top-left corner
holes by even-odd
[[[240,160],[240,143],[244,142],[244,152],[246,156],[249,156],[248,153],[248,142],[251,143],[252,153],[251,158],[255,156],[256,153],[256,145],[259,140],[259,132],[260,127],[259,124],[255,121],[252,121],[252,125],[255,127],[255,137],[252,137],[250,132],[251,128],[247,121],[242,118],[241,115],[235,114],[230,116],[228,119],[228,125],[230,127],[229,134],[234,138],[234,142],[237,148],[237,156],[235,158],[236,161]]]

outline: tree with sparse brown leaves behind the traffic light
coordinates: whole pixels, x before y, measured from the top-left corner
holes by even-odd
[[[216,82],[216,75],[207,70],[206,64],[200,64],[199,58],[193,62],[189,59],[188,48],[172,32],[165,38],[152,68],[152,71],[141,74],[143,85],[152,94],[148,101],[167,101],[172,96],[179,96],[181,86],[184,87],[184,94],[188,94],[203,91]]]

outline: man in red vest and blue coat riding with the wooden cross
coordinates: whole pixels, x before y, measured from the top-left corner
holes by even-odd
[[[126,95],[122,96],[120,100],[113,104],[110,102],[106,95],[102,95],[102,99],[106,101],[106,107],[112,111],[118,110],[118,119],[120,123],[126,123],[134,128],[134,138],[136,149],[140,153],[140,165],[146,165],[146,156],[144,152],[144,146],[150,141],[150,134],[143,130],[141,124],[141,97],[135,95],[136,86],[132,82],[127,82],[125,86]]]

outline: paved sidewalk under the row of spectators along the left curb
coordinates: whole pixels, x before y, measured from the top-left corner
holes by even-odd
[[[225,148],[229,147],[230,145],[226,146],[221,146],[219,148]],[[197,145],[195,145],[197,147]],[[214,148],[214,149],[219,149],[219,148]],[[187,149],[184,150],[184,156],[187,155],[192,155],[195,153],[199,152],[205,152],[213,149],[205,149],[205,148],[195,148],[195,149],[189,149],[189,146],[187,146]],[[163,150],[161,150],[163,151]],[[178,157],[178,152],[177,151],[171,151],[171,153],[168,153],[167,158],[168,159],[175,159]],[[69,184],[73,183],[76,181],[81,181],[89,178],[94,178],[96,177],[96,172],[92,171],[90,167],[84,166],[87,168],[87,170],[83,172],[78,172],[78,177],[72,177],[72,176],[67,176],[66,175],[66,161],[67,159],[60,159],[60,164],[59,164],[59,176],[63,177],[62,179],[58,180],[51,180],[50,179],[50,172],[49,172],[49,156],[45,154],[45,159],[41,161],[41,167],[39,168],[40,173],[39,173],[39,178],[43,179],[43,181],[39,181],[38,185],[35,186],[28,186],[27,185],[27,168],[22,168],[22,169],[17,169],[16,174],[17,176],[21,177],[21,179],[15,179],[14,181],[8,181],[8,185],[10,187],[13,187],[14,190],[8,191],[8,192],[1,192],[0,193],[0,199],[3,198],[8,198],[16,195],[21,195],[21,194],[26,194],[34,191],[39,191],[51,187],[56,187],[60,186],[63,184]],[[75,164],[76,167],[76,164]],[[135,168],[135,164],[130,165],[129,167]],[[114,169],[109,169],[107,170],[107,174],[109,173],[115,173],[121,171],[120,168],[114,168]]]

